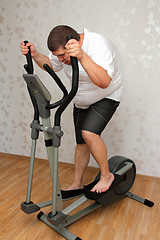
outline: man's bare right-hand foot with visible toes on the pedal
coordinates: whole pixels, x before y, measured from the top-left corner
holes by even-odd
[[[114,175],[112,173],[109,173],[107,176],[101,176],[99,182],[92,188],[92,192],[102,193],[106,192],[112,182],[114,181]]]

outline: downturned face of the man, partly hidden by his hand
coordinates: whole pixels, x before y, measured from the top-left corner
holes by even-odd
[[[70,56],[68,55],[67,50],[62,46],[60,46],[56,51],[53,51],[52,54],[57,56],[60,62],[71,65]]]

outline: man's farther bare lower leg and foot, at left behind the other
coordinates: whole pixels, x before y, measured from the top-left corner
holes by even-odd
[[[75,190],[75,189],[82,189],[82,179],[84,171],[89,163],[90,159],[90,151],[87,144],[77,144],[75,149],[75,175],[74,181],[71,186],[64,190]]]

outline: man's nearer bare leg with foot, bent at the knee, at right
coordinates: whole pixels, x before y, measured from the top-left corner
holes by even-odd
[[[114,175],[109,171],[108,167],[107,148],[105,143],[99,135],[89,131],[82,130],[82,135],[101,170],[100,181],[94,186],[92,191],[98,193],[105,192],[114,181]]]

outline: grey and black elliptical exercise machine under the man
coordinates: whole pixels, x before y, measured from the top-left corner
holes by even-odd
[[[71,39],[71,36],[67,37],[67,40]],[[27,44],[27,41],[25,41]],[[34,108],[34,119],[31,123],[31,138],[32,138],[32,147],[31,147],[31,157],[30,157],[30,168],[28,176],[28,187],[26,201],[21,203],[21,209],[27,214],[31,214],[39,211],[43,207],[52,206],[52,211],[49,214],[44,214],[42,211],[39,212],[37,218],[47,224],[49,227],[54,229],[60,235],[68,240],[78,240],[81,239],[70,231],[67,230],[67,226],[74,223],[78,219],[84,217],[95,209],[99,208],[102,205],[109,205],[112,202],[115,202],[122,197],[129,197],[134,200],[139,201],[140,203],[145,204],[146,206],[152,207],[153,202],[139,197],[131,192],[129,189],[132,187],[135,176],[136,176],[136,166],[135,163],[126,157],[115,156],[109,159],[109,168],[110,171],[115,174],[116,180],[111,185],[109,191],[101,194],[93,193],[90,190],[96,184],[100,178],[100,173],[96,176],[94,182],[85,186],[84,194],[79,197],[72,204],[63,209],[63,201],[60,181],[58,176],[58,155],[59,147],[61,144],[61,137],[63,136],[63,131],[61,130],[60,121],[61,115],[69,103],[74,98],[77,89],[78,89],[78,80],[79,80],[79,69],[78,61],[76,58],[71,57],[72,64],[72,87],[68,94],[65,86],[59,79],[59,77],[50,69],[50,67],[45,64],[45,70],[53,77],[61,91],[63,92],[63,97],[61,100],[56,103],[51,104],[51,94],[38,78],[37,75],[33,74],[33,63],[31,58],[31,53],[26,55],[27,64],[24,65],[27,74],[23,74],[23,78],[27,83],[27,88],[29,95]],[[54,126],[51,126],[51,109],[58,107],[55,113]],[[41,118],[41,123],[40,119]],[[50,174],[52,181],[52,200],[45,201],[41,203],[33,203],[31,201],[31,191],[32,191],[32,179],[34,171],[34,161],[36,154],[36,143],[39,137],[39,132],[44,133],[45,146],[48,155],[48,161],[50,166]],[[70,199],[70,198],[69,198]],[[94,202],[85,207],[81,211],[70,215],[70,213],[78,208],[81,204],[85,203],[88,199],[94,200]],[[68,199],[65,199],[65,201]]]

